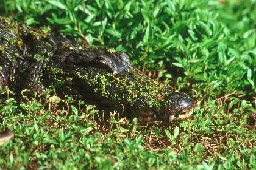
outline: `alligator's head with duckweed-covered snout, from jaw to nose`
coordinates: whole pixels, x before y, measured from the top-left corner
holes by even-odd
[[[67,51],[55,53],[54,64],[44,74],[44,80],[59,84],[65,94],[89,98],[141,121],[191,116],[195,106],[191,97],[143,75],[132,67],[126,53],[99,48]]]

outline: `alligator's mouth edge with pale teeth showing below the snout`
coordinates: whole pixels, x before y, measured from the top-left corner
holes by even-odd
[[[142,115],[140,114],[140,121],[142,122],[152,122],[152,121],[163,121],[163,122],[175,122],[180,120],[185,120],[191,117],[193,111],[176,113],[176,114],[152,114],[152,115]]]

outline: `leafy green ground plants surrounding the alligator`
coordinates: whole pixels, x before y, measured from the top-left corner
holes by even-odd
[[[15,138],[1,147],[0,168],[256,169],[255,4],[2,0],[1,15],[127,52],[197,107],[193,119],[160,127],[68,97],[54,103],[52,89],[43,103],[1,100],[0,129]]]

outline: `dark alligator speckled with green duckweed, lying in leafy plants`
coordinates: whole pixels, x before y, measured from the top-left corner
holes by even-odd
[[[129,56],[113,49],[85,46],[77,39],[19,24],[0,16],[0,88],[43,91],[107,106],[140,121],[188,118],[193,99],[146,77]],[[105,107],[106,108],[106,107]]]

